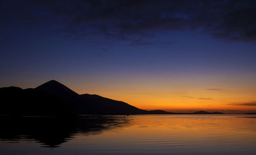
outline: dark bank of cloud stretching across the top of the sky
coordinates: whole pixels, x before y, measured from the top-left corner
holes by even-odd
[[[130,40],[134,35],[196,31],[228,41],[256,41],[256,1],[250,0],[27,0],[17,1],[16,5],[5,1],[1,9],[5,12],[0,15],[3,23],[35,28],[40,25],[79,37],[105,35]]]

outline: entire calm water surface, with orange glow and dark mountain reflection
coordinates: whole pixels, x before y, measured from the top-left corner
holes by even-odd
[[[1,117],[0,154],[255,154],[255,115]]]

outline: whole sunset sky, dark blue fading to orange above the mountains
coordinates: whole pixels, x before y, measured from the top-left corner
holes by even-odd
[[[0,1],[0,87],[256,112],[255,1]]]

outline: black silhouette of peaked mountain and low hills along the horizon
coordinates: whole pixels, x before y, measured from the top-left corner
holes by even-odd
[[[123,101],[99,95],[77,94],[65,85],[51,80],[36,88],[0,88],[0,115],[67,116],[83,114],[178,114],[163,110],[142,110]],[[179,113],[182,114],[182,113]],[[223,114],[198,111],[190,114]]]

